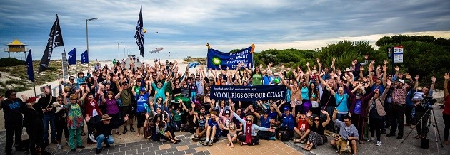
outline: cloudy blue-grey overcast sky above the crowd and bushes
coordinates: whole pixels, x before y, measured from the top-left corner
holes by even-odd
[[[97,17],[88,21],[90,60],[116,58],[119,42],[121,58],[124,50],[139,55],[134,31],[141,5],[145,59],[169,52],[170,58],[206,57],[206,43],[223,52],[255,43],[258,52],[321,48],[344,39],[374,43],[393,34],[450,38],[450,1],[1,0],[0,43],[17,38],[40,60],[58,14],[66,52],[76,48],[79,56],[86,50],[85,19]],[[164,50],[148,52],[159,47]],[[52,59],[63,51],[55,48]]]

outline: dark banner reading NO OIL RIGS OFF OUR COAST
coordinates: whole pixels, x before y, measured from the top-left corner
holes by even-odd
[[[256,101],[256,100],[284,100],[286,86],[257,85],[257,86],[219,86],[211,87],[209,97],[214,100]]]

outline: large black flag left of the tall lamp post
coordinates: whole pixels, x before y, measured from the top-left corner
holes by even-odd
[[[39,63],[38,73],[41,73],[49,68],[53,48],[58,46],[64,46],[64,42],[62,39],[61,27],[59,27],[58,15],[56,15],[56,21],[53,23],[53,26],[51,26],[49,41],[47,42],[47,46],[44,50],[44,55],[42,55],[41,63]]]

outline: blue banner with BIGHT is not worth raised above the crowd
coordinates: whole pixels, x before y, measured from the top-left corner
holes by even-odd
[[[250,46],[249,48],[244,48],[236,53],[223,53],[219,50],[209,48],[207,56],[208,68],[219,69],[219,65],[221,65],[222,69],[228,67],[230,70],[234,70],[239,63],[244,63],[244,65],[247,66],[253,60],[253,54],[251,53],[251,51],[253,51],[252,49],[253,48]]]

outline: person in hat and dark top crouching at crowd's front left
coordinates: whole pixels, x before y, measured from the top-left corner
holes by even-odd
[[[94,128],[96,129],[97,154],[100,154],[101,152],[102,142],[106,144],[105,147],[109,147],[110,144],[114,143],[114,139],[111,136],[111,131],[125,124],[125,122],[128,120],[128,114],[124,119],[124,121],[119,120],[119,122],[111,123],[111,117],[109,117],[108,114],[103,114],[101,115],[101,122],[94,124]],[[89,122],[89,120],[91,120],[91,116],[89,114],[86,114],[86,122]]]

